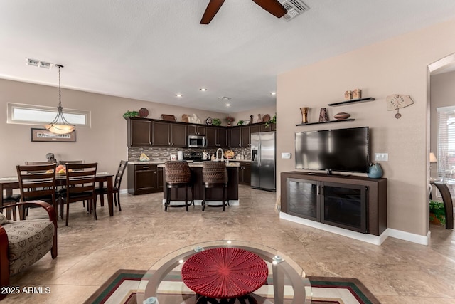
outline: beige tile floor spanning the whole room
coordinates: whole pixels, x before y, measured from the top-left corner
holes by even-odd
[[[363,243],[279,219],[275,194],[240,186],[240,206],[191,206],[164,213],[162,193],[122,195],[122,211],[98,221],[82,204],[59,221],[58,258],[50,253],[11,278],[11,286],[50,287],[48,294],[8,295],[3,303],[83,303],[120,268],[147,269],[182,246],[217,239],[262,243],[287,253],[309,276],[353,277],[381,303],[455,303],[455,236],[432,225],[431,245],[388,238]]]

